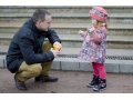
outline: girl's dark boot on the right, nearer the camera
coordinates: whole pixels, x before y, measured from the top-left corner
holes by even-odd
[[[104,90],[106,88],[106,80],[105,79],[100,79],[100,83],[94,86],[93,90],[94,91],[100,91]]]

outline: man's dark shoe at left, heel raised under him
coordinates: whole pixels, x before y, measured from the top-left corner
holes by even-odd
[[[17,74],[14,74],[14,82],[16,82],[16,87],[19,89],[19,90],[28,90],[24,82],[23,81],[20,81],[18,78],[17,78]]]

